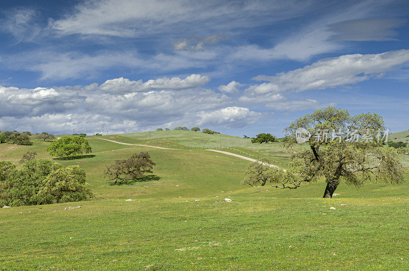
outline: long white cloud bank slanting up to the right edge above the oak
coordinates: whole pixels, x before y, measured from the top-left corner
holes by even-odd
[[[263,94],[335,88],[381,76],[382,73],[396,70],[408,61],[409,50],[324,58],[304,68],[275,76],[256,76],[254,80],[270,82],[251,86],[247,91]]]

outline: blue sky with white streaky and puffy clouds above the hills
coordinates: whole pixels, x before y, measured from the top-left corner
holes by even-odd
[[[409,1],[0,1],[0,130],[409,129]]]

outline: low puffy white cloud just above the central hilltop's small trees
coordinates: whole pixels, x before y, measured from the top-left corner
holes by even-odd
[[[200,117],[199,125],[213,124],[239,128],[259,121],[261,113],[243,107],[227,107],[210,112],[201,111],[197,113],[197,116]]]

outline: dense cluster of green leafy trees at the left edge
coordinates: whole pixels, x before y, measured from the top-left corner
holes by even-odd
[[[0,205],[21,206],[86,200],[92,193],[85,171],[49,160],[30,160],[16,170],[0,161]]]

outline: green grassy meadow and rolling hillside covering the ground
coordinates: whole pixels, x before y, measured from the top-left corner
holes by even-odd
[[[149,139],[149,133],[118,136]],[[221,137],[223,150],[282,162],[290,155],[279,143],[228,135],[150,136],[204,148],[220,147]],[[409,269],[409,182],[341,183],[339,196],[323,199],[324,181],[296,190],[241,185],[249,161],[221,153],[88,141],[92,155],[57,161],[79,164],[95,198],[0,209],[0,270]],[[45,151],[50,142],[33,142],[1,144],[0,159],[17,162],[27,151],[52,159]],[[110,186],[103,179],[108,163],[141,151],[156,163],[151,180]],[[81,207],[64,210],[69,206]]]

